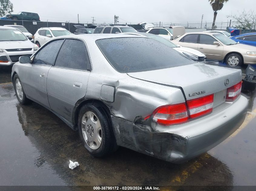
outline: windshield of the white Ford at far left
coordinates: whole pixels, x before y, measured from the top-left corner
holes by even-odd
[[[0,29],[0,41],[25,41],[28,38],[19,30]]]

